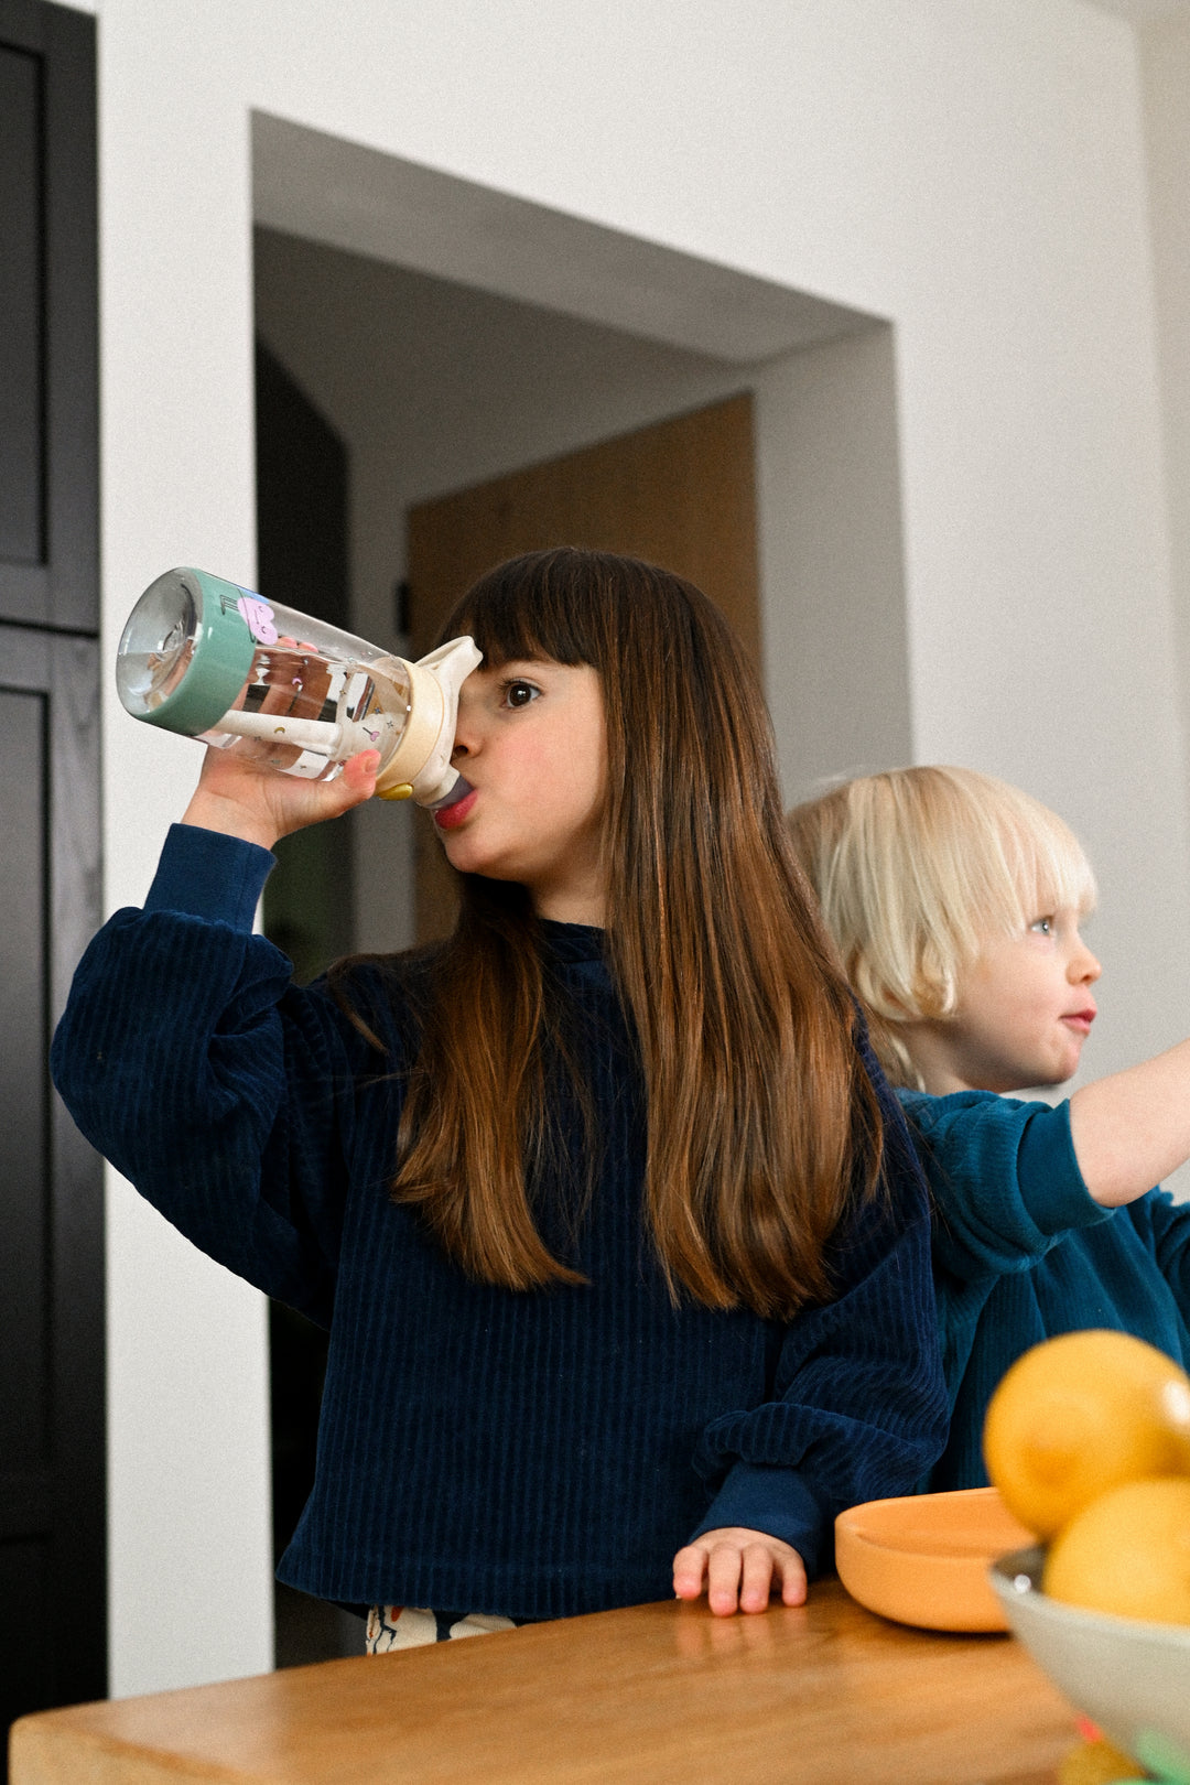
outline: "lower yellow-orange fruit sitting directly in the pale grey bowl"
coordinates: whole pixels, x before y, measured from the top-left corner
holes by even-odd
[[[1051,1544],[1042,1590],[1088,1612],[1190,1624],[1190,1478],[1101,1494]]]

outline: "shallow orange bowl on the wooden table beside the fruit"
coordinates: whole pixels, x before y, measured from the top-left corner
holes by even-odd
[[[994,1487],[869,1499],[835,1519],[835,1567],[860,1605],[922,1630],[1006,1630],[988,1569],[1033,1533]]]

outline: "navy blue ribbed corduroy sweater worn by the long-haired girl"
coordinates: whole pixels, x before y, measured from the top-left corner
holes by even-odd
[[[252,934],[271,860],[175,826],[145,910],[91,942],[52,1059],[82,1132],[177,1228],[330,1328],[282,1580],[571,1615],[667,1598],[674,1551],[726,1524],[785,1539],[814,1573],[842,1507],[912,1489],[946,1437],[930,1223],[865,1044],[887,1196],[835,1239],[839,1298],[789,1326],[674,1308],[642,1226],[642,1085],[603,935],[542,925],[601,1137],[571,1246],[589,1283],[476,1285],[387,1194],[412,1035],[400,978],[353,982],[382,1059]],[[576,1119],[569,1144],[578,1158]]]

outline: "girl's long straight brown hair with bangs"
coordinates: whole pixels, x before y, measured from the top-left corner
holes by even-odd
[[[644,1210],[671,1292],[780,1319],[828,1299],[824,1248],[876,1182],[880,1108],[735,634],[680,577],[576,550],[489,571],[442,637],[462,632],[485,666],[548,657],[603,682],[608,960],[639,1050]],[[569,1057],[537,919],[523,887],[459,880],[459,925],[426,960],[393,1196],[482,1282],[582,1282],[533,1207],[560,1158],[546,1060]],[[566,1210],[551,1216],[553,1230]]]

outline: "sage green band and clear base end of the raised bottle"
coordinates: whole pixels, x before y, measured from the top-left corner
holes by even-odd
[[[120,639],[116,687],[125,710],[186,737],[214,730],[248,680],[257,643],[269,643],[269,619],[252,589],[202,569],[166,571]]]

